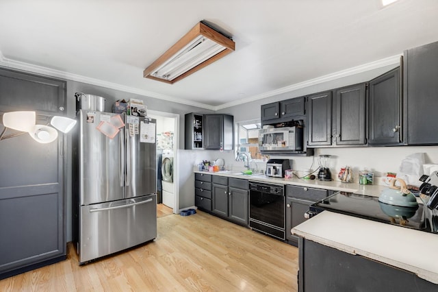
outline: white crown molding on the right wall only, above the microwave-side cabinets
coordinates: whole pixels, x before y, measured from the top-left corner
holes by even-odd
[[[230,108],[231,106],[238,106],[240,104],[246,104],[247,102],[250,102],[250,101],[256,101],[259,99],[272,97],[274,95],[279,95],[281,93],[289,93],[291,91],[298,90],[301,88],[306,88],[306,87],[314,86],[314,85],[321,84],[324,82],[337,80],[337,79],[342,78],[342,77],[347,77],[350,75],[363,73],[363,72],[378,69],[378,68],[381,68],[384,66],[400,64],[400,56],[402,56],[401,53],[399,55],[391,56],[391,57],[384,58],[384,59],[381,59],[378,61],[370,62],[370,63],[363,64],[360,66],[355,66],[355,67],[350,68],[350,69],[337,71],[335,73],[331,73],[331,74],[324,75],[321,77],[316,77],[316,78],[311,79],[311,80],[306,80],[305,82],[300,82],[300,83],[292,84],[289,86],[285,86],[283,88],[272,90],[272,91],[269,91],[267,93],[261,93],[260,95],[254,95],[253,97],[248,97],[246,99],[239,99],[236,101],[231,101],[228,104],[222,104],[220,106],[216,106],[216,110],[222,110],[224,108]]]

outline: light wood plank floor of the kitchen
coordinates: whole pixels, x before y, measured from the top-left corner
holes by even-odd
[[[205,212],[158,221],[155,241],[79,266],[0,280],[0,291],[297,291],[298,250]]]

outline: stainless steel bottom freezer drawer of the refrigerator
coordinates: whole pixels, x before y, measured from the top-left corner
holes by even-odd
[[[157,196],[81,206],[79,263],[86,263],[157,237]]]

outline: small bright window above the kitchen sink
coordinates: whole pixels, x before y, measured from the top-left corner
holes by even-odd
[[[250,156],[250,161],[262,161],[267,156],[261,155],[259,151],[259,130],[261,123],[259,119],[251,121],[242,121],[236,123],[236,158],[239,158],[241,153],[246,152]]]

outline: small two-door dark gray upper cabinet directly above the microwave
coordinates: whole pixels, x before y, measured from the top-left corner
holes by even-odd
[[[296,97],[261,106],[261,121],[281,122],[283,119],[305,114],[305,97]]]

